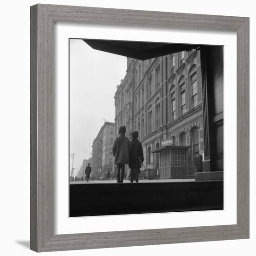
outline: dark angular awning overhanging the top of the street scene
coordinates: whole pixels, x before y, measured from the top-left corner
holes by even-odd
[[[197,49],[200,45],[135,41],[83,39],[90,47],[141,61],[180,51]]]

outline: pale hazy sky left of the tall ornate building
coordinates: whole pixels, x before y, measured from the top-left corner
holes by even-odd
[[[70,154],[74,153],[75,174],[83,159],[91,157],[92,143],[104,123],[102,118],[115,120],[114,94],[126,68],[126,57],[70,39]]]

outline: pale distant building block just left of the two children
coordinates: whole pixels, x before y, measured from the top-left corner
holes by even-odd
[[[93,141],[92,168],[101,172],[113,170],[112,144],[115,123],[105,122]]]

